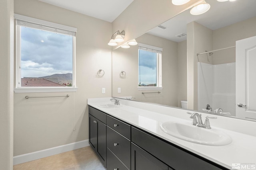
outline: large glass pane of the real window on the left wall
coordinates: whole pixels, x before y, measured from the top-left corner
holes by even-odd
[[[21,86],[72,86],[72,36],[20,27]]]

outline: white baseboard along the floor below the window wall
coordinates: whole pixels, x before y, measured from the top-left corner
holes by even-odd
[[[70,143],[67,145],[62,145],[58,147],[53,147],[49,149],[44,149],[36,152],[14,156],[13,165],[29,162],[29,161],[40,159],[40,158],[45,158],[47,156],[52,156],[54,154],[60,154],[63,152],[68,152],[70,150],[80,149],[88,146],[89,146],[89,140],[84,140],[84,141],[79,141],[75,143]]]

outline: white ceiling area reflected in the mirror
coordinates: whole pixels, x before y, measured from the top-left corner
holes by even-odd
[[[179,38],[176,35],[186,34],[186,24],[196,21],[212,30],[231,25],[233,23],[246,20],[256,16],[256,0],[236,0],[234,2],[218,2],[217,0],[206,0],[211,8],[208,12],[193,16],[190,9],[182,12],[178,16],[162,23],[166,29],[156,27],[148,33],[180,42],[186,40],[186,36]]]

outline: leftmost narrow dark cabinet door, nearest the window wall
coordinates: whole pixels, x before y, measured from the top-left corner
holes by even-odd
[[[96,118],[89,114],[89,143],[97,151],[97,126]]]

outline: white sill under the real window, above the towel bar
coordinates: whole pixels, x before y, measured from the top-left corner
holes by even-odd
[[[40,93],[40,92],[76,92],[78,88],[68,87],[68,88],[45,88],[45,87],[35,87],[35,88],[14,88],[15,93]]]

